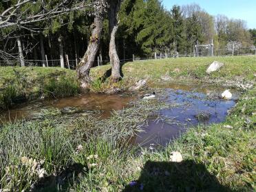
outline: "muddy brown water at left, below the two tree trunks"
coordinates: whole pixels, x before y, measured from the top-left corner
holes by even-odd
[[[85,94],[69,98],[59,98],[54,100],[35,100],[33,102],[18,105],[16,109],[0,111],[0,121],[6,122],[15,119],[29,118],[41,109],[54,107],[61,109],[63,113],[86,112],[100,110],[100,116],[107,118],[112,110],[120,110],[128,105],[134,97],[123,94]]]

